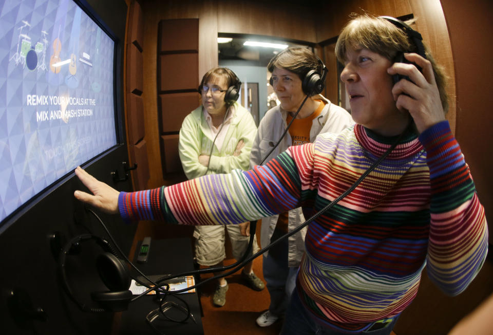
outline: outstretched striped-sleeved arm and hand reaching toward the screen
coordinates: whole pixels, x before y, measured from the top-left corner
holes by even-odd
[[[302,198],[296,163],[288,153],[255,170],[234,170],[129,193],[118,192],[80,167],[75,174],[92,193],[75,191],[75,198],[106,213],[120,213],[128,222],[240,224],[300,207]]]

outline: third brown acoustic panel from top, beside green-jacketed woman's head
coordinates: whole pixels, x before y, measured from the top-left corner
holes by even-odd
[[[162,133],[176,132],[185,116],[200,106],[200,95],[193,92],[159,95]]]

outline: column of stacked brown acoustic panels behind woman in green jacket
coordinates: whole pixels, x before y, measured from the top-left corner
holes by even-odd
[[[200,105],[199,19],[161,20],[158,25],[158,118],[164,179],[184,179],[178,138],[185,116]]]

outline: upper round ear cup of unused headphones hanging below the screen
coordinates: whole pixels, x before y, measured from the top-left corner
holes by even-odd
[[[104,285],[111,291],[128,290],[130,276],[127,268],[115,255],[104,252],[96,260],[96,268]]]

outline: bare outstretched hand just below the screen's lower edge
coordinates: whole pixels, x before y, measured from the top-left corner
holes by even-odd
[[[118,211],[118,196],[119,191],[111,188],[104,182],[92,177],[85,172],[80,166],[75,169],[75,175],[79,177],[82,183],[92,192],[92,194],[75,191],[73,195],[76,199],[90,204],[103,212],[109,214],[117,214]]]

